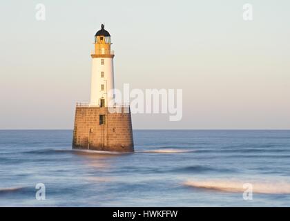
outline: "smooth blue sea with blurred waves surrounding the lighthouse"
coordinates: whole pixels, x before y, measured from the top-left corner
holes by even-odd
[[[0,131],[0,206],[290,206],[290,131],[135,130],[134,153],[70,130]]]

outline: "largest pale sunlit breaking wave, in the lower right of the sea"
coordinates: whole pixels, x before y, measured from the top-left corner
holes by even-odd
[[[243,188],[245,183],[253,185],[253,193],[267,194],[290,194],[289,182],[241,182],[226,180],[206,180],[206,181],[187,181],[185,186],[199,189],[209,189],[213,191],[243,193],[247,188]]]

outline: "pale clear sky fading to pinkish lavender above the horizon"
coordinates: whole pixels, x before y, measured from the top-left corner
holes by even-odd
[[[134,129],[290,129],[289,10],[287,0],[1,1],[0,129],[73,128],[101,23],[116,88],[182,89],[182,120],[135,114]]]

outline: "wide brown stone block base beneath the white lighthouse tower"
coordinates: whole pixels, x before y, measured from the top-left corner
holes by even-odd
[[[107,107],[77,106],[72,148],[95,151],[134,151],[130,108],[110,113]]]

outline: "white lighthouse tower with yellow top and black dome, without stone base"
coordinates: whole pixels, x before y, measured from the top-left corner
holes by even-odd
[[[101,24],[95,35],[95,51],[92,53],[92,78],[90,86],[90,106],[108,106],[114,101],[114,52],[110,50],[110,33]]]

